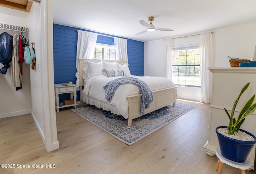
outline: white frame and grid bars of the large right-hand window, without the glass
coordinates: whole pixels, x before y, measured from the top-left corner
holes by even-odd
[[[189,50],[189,49],[199,49],[199,44],[192,44],[192,45],[181,45],[181,46],[175,46],[175,47],[172,47],[172,51],[182,51],[182,50]],[[198,53],[199,54],[196,54],[196,52],[195,52],[195,56],[196,55],[199,55],[199,61],[200,61],[200,50],[198,50]],[[180,56],[181,55],[178,55],[178,57],[179,57],[179,59],[180,59]],[[195,69],[196,69],[196,67],[199,67],[199,71],[200,71],[200,62],[199,62],[199,64],[187,64],[188,62],[187,62],[187,59],[188,59],[188,54],[186,54],[186,64],[178,64],[178,65],[174,65],[173,63],[173,54],[172,54],[172,79],[173,79],[173,76],[178,76],[178,78],[179,78],[179,73],[178,73],[178,75],[174,75],[173,74],[173,67],[185,67],[186,68],[186,73],[185,73],[185,75],[181,75],[181,76],[184,76],[184,77],[188,77],[188,76],[192,76],[192,75],[187,75],[187,67],[194,67],[194,72],[195,72]],[[195,62],[196,63],[196,62]],[[200,86],[198,86],[198,85],[195,85],[195,77],[201,77],[201,75],[195,75],[195,73],[194,73],[194,75],[193,75],[193,83],[194,83],[194,85],[184,85],[184,84],[175,84],[175,85],[178,85],[178,86],[186,86],[186,87],[201,87],[201,79],[200,79]],[[186,80],[185,80],[185,83],[186,83]]]

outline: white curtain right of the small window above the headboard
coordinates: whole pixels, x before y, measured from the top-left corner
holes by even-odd
[[[128,61],[127,40],[114,37],[116,57],[118,60]]]

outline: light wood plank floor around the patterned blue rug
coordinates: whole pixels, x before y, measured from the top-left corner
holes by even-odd
[[[208,137],[210,107],[178,100],[197,107],[165,127],[128,146],[63,108],[56,113],[60,149],[46,152],[31,115],[0,119],[0,174],[216,174],[218,158],[203,148]],[[20,165],[51,164],[55,168]],[[255,170],[246,171],[255,174]],[[224,164],[222,174],[240,174]]]

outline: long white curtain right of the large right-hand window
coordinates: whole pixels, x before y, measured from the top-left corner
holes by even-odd
[[[212,100],[212,73],[208,67],[213,65],[212,33],[200,34],[200,69],[201,69],[201,96],[200,102],[211,103]]]

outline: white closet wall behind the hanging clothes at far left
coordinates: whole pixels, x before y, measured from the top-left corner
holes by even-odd
[[[0,23],[10,24],[15,26],[28,26],[27,19],[22,17],[17,17],[15,11],[12,10],[13,15],[2,14],[0,13]],[[0,12],[4,12],[3,10]],[[18,13],[19,14],[19,13]],[[14,36],[16,32],[10,30],[0,29],[0,33],[7,32],[10,35]],[[23,33],[26,38],[28,38],[27,33]],[[2,68],[0,63],[0,68]],[[12,87],[11,83],[11,68],[7,70],[6,75],[0,74],[0,118],[12,117],[16,115],[23,115],[30,113],[31,108],[31,96],[30,96],[30,66],[27,66],[26,63],[23,63],[23,84],[22,89],[16,91],[15,87]]]

